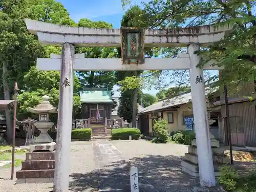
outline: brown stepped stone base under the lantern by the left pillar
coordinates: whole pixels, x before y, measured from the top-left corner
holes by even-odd
[[[55,164],[55,142],[34,143],[22,162],[22,169],[16,172],[17,183],[53,182]]]

